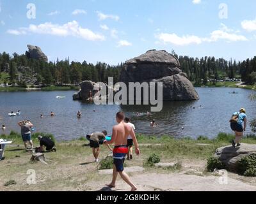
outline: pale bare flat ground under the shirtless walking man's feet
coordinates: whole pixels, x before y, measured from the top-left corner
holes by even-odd
[[[256,191],[256,186],[236,179],[228,179],[227,184],[219,183],[220,177],[185,175],[182,173],[156,174],[140,173],[132,177],[138,191]],[[88,183],[92,191],[129,191],[130,188],[119,177],[115,189],[104,187],[104,182]]]

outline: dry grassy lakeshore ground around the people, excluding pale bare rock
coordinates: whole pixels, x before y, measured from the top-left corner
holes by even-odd
[[[35,146],[38,145],[36,139],[38,134],[45,135],[42,133],[33,135]],[[54,138],[49,134],[46,136]],[[141,155],[134,156],[131,161],[126,160],[125,167],[143,167],[145,168],[143,173],[129,173],[129,175],[148,175],[148,177],[156,176],[156,174],[167,175],[182,172],[186,170],[186,166],[189,166],[189,169],[193,168],[204,172],[207,159],[214,154],[218,147],[230,145],[230,139],[234,138],[233,135],[225,133],[220,133],[214,140],[205,136],[200,136],[198,139],[175,139],[170,136],[145,135],[138,135],[137,137]],[[69,142],[57,142],[57,152],[45,152],[48,165],[29,161],[31,153],[24,150],[18,133],[1,135],[0,138],[13,140],[12,145],[6,146],[5,159],[0,161],[0,190],[2,191],[95,191],[100,190],[104,184],[111,180],[111,175],[99,175],[99,165],[93,162],[92,149],[84,138]],[[243,143],[256,144],[256,137],[244,138]],[[109,153],[106,147],[100,146],[99,159],[103,160]],[[179,165],[175,168],[157,168],[145,165],[148,157],[153,153],[159,156],[163,163],[174,162],[179,163]],[[36,172],[35,185],[26,184],[28,170],[35,170]],[[4,186],[4,184],[10,185]]]

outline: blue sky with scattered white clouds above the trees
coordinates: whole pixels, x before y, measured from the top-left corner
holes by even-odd
[[[117,64],[155,48],[242,60],[256,55],[255,8],[255,0],[0,0],[0,52],[31,44],[51,61]]]

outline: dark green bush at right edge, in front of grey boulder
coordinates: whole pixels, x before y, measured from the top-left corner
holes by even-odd
[[[237,172],[246,177],[256,177],[256,154],[240,159],[237,162]]]

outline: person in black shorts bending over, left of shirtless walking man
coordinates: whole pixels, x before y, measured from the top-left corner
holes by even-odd
[[[90,135],[90,147],[92,148],[92,154],[94,156],[94,161],[99,162],[99,153],[100,153],[100,143],[103,144],[104,140],[106,140],[106,135],[108,135],[107,131],[104,130],[102,133],[93,133]],[[107,144],[108,149],[112,151],[111,147]]]

